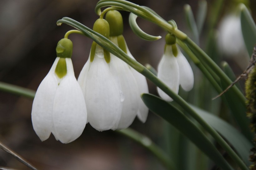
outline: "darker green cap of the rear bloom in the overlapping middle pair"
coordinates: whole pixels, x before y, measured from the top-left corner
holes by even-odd
[[[110,36],[118,36],[123,34],[123,17],[119,11],[108,11],[106,13],[106,20],[109,23]]]

